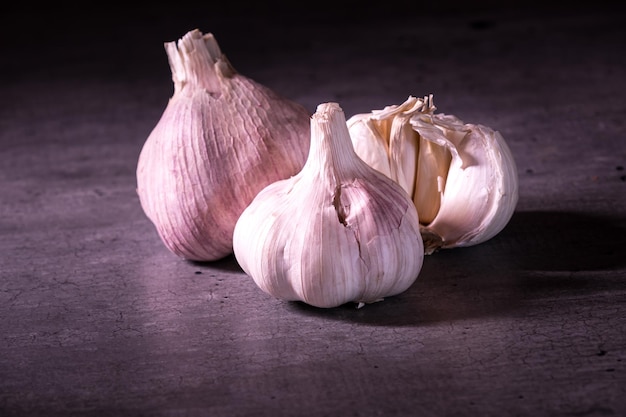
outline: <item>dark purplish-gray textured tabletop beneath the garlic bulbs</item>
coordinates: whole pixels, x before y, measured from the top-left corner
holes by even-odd
[[[622,12],[181,9],[3,16],[0,415],[626,414]],[[311,111],[433,93],[499,130],[510,224],[359,310],[275,300],[232,257],[176,258],[135,166],[172,93],[162,43],[196,27]]]

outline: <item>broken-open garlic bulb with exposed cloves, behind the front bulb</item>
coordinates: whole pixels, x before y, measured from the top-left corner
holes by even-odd
[[[502,135],[435,109],[432,95],[410,96],[347,121],[356,153],[413,197],[427,254],[492,238],[518,200],[517,167]]]

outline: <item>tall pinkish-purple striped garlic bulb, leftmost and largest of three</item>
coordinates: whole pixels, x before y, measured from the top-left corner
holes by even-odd
[[[304,165],[310,113],[238,74],[212,34],[165,49],[174,93],[139,155],[137,193],[170,251],[213,261],[232,253],[256,194]]]

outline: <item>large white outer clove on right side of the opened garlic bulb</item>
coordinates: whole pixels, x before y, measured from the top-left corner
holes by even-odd
[[[517,166],[502,135],[444,114],[420,115],[411,123],[426,140],[436,126],[450,141],[447,148],[455,149],[441,207],[425,229],[444,237],[443,248],[476,245],[498,234],[518,201]]]

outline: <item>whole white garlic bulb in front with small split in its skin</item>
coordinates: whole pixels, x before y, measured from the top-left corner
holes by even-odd
[[[424,257],[408,194],[356,155],[337,103],[317,107],[310,142],[302,170],[264,188],[241,214],[239,265],[266,293],[316,307],[405,291]]]

